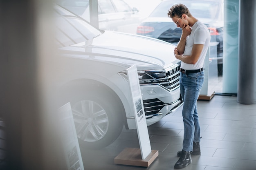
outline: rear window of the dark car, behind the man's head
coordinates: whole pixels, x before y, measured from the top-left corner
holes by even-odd
[[[182,4],[188,7],[189,11],[195,18],[209,18],[217,17],[219,2],[213,1],[182,1]],[[168,10],[177,4],[176,1],[163,1],[150,14],[150,17],[167,17]]]

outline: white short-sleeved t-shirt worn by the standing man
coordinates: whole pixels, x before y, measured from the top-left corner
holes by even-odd
[[[198,61],[195,64],[186,64],[182,62],[181,68],[184,70],[197,70],[202,68],[210,40],[211,35],[207,26],[200,21],[195,22],[195,24],[191,27],[190,35],[186,38],[186,46],[183,55],[191,55],[193,44],[204,44],[204,47]]]

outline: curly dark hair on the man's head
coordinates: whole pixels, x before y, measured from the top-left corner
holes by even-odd
[[[189,12],[189,9],[184,5],[184,4],[175,4],[173,5],[169,10],[168,10],[168,17],[173,18],[173,17],[179,17],[183,14],[188,15],[189,17],[191,16],[191,13]]]

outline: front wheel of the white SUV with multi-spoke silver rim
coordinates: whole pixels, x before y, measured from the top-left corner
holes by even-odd
[[[79,146],[100,149],[112,144],[124,126],[119,97],[102,84],[76,84],[65,88],[65,96],[71,104]]]

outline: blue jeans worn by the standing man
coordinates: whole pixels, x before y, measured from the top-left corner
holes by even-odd
[[[182,116],[184,123],[183,150],[191,152],[193,141],[200,141],[200,124],[196,102],[204,82],[204,71],[201,73],[180,73],[180,93],[184,100]]]

